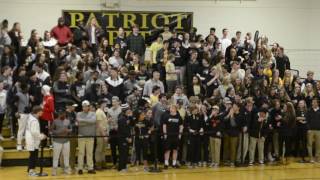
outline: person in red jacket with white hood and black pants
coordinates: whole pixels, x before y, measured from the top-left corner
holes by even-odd
[[[41,133],[48,136],[49,127],[53,121],[54,117],[54,97],[51,94],[51,87],[48,85],[44,85],[41,88],[41,93],[43,95],[42,102],[42,115],[40,117],[40,131]]]

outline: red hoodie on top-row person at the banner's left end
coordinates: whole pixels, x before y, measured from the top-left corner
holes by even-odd
[[[51,30],[51,36],[54,37],[59,45],[67,45],[72,39],[72,32],[68,26],[56,26]]]

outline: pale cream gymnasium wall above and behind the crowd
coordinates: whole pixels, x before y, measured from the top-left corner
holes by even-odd
[[[317,70],[320,48],[316,34],[320,32],[320,2],[318,0],[256,0],[256,1],[203,1],[203,0],[118,0],[119,7],[112,10],[131,11],[188,11],[194,12],[194,26],[207,34],[210,27],[221,35],[224,27],[233,36],[242,32],[260,31],[285,47],[292,68],[305,74]],[[62,9],[107,10],[104,0],[0,0],[0,19],[7,18],[10,27],[14,21],[22,22],[23,33],[30,36],[35,28],[42,35],[50,30],[61,16]],[[313,24],[311,24],[313,22]],[[320,72],[317,78],[320,79]]]

